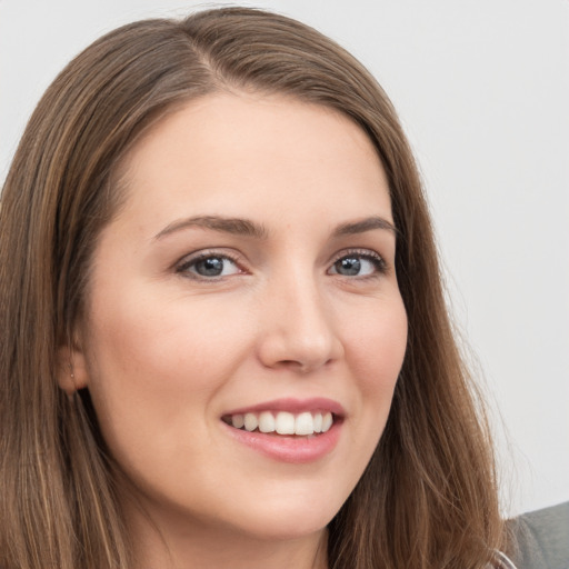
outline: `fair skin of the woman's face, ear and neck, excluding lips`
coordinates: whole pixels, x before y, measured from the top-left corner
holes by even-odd
[[[381,436],[407,341],[395,232],[336,234],[392,223],[371,142],[330,109],[216,94],[162,119],[122,166],[127,200],[100,236],[66,355],[73,382],[60,382],[88,387],[126,473],[137,567],[327,567],[326,526]],[[184,224],[196,216],[263,234]],[[198,273],[200,252],[221,259],[220,277]],[[346,413],[309,463],[263,456],[221,421],[310,397]]]

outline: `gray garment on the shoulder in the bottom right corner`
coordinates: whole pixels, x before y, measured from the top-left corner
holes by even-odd
[[[569,502],[509,521],[518,546],[518,569],[569,569]]]

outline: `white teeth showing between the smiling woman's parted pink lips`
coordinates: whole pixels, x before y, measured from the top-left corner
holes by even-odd
[[[309,437],[328,432],[339,418],[330,411],[301,413],[262,411],[227,415],[221,420],[242,431]]]

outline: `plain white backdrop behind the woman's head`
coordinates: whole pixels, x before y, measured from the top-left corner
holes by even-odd
[[[505,512],[569,499],[569,1],[241,3],[315,26],[390,94],[493,401]],[[0,0],[0,180],[72,56],[121,23],[210,6]]]

